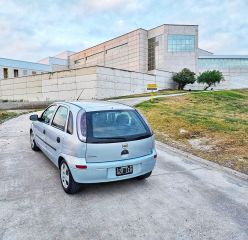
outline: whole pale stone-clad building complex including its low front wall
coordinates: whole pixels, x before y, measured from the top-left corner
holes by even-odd
[[[0,69],[6,66],[0,62]],[[27,68],[30,75],[34,66],[41,74],[14,75],[15,69]],[[143,93],[148,83],[157,83],[158,89],[175,88],[172,75],[183,68],[196,74],[222,71],[226,81],[219,89],[248,88],[248,56],[220,56],[199,49],[197,25],[139,28],[77,53],[67,51],[29,66],[17,68],[12,62],[7,67],[12,74],[8,78],[19,77],[0,81],[0,99],[75,100],[82,90],[81,99],[99,99]]]

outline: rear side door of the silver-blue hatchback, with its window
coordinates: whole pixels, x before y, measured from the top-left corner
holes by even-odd
[[[59,105],[51,124],[47,126],[46,140],[48,157],[57,165],[58,158],[62,149],[62,140],[65,137],[69,108]]]

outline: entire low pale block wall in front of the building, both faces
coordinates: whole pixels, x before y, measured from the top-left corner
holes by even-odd
[[[148,83],[172,88],[170,72],[153,74],[108,67],[86,67],[0,81],[0,99],[27,101],[103,99],[146,92]]]

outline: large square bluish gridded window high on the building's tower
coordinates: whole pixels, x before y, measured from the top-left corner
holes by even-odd
[[[194,35],[168,35],[168,52],[194,52]]]

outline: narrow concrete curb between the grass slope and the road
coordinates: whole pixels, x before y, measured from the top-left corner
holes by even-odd
[[[212,168],[212,169],[215,169],[217,171],[222,171],[222,172],[227,173],[231,176],[235,176],[241,180],[248,181],[248,175],[247,174],[240,173],[240,172],[233,170],[231,168],[221,166],[218,163],[214,163],[214,162],[211,162],[209,160],[197,157],[191,153],[184,152],[180,149],[171,147],[171,146],[164,144],[162,142],[159,142],[159,141],[156,141],[156,146],[162,151],[169,151],[170,153],[177,155],[177,156],[181,155],[182,157],[187,158],[187,160],[191,161],[192,163],[198,163],[203,167]]]

